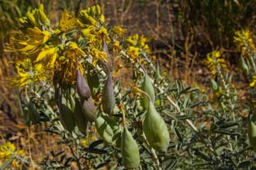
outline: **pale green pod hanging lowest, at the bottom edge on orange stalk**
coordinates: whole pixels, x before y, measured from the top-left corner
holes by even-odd
[[[139,147],[126,127],[123,129],[122,133],[121,155],[123,158],[123,165],[126,168],[133,169],[140,166]]]

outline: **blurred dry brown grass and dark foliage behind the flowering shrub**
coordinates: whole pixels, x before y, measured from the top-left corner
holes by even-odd
[[[99,4],[112,26],[123,25],[128,35],[139,33],[150,37],[152,53],[171,79],[206,89],[209,87],[206,75],[210,74],[200,62],[206,53],[220,49],[227,65],[237,71],[239,53],[234,46],[234,32],[250,29],[256,35],[255,0],[0,0],[0,143],[12,141],[23,148],[32,140],[31,151],[38,155],[34,158],[57,146],[53,135],[42,133],[40,125],[27,129],[19,118],[18,94],[8,87],[7,81],[16,73],[15,63],[9,61],[17,55],[3,53],[3,49],[6,43],[13,43],[11,37],[19,32],[18,19],[40,3],[54,24],[64,9],[78,12]],[[243,80],[239,73],[234,80]],[[123,75],[126,74],[124,71]],[[237,89],[241,98],[246,97],[243,84]],[[43,145],[38,145],[40,141]],[[42,152],[36,152],[38,149]]]

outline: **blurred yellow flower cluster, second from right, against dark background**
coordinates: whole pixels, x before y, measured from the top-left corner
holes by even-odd
[[[202,61],[210,70],[212,75],[215,75],[218,70],[227,68],[225,59],[221,58],[220,51],[214,50],[206,55],[206,59]]]

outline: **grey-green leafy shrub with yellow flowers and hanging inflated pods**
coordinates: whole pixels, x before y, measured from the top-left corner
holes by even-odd
[[[59,135],[71,151],[51,151],[54,160],[46,155],[33,166],[254,167],[254,105],[247,109],[237,100],[220,51],[209,53],[203,62],[215,78],[210,95],[161,73],[147,37],[126,36],[123,26],[109,26],[99,5],[78,15],[64,11],[56,24],[40,5],[19,22],[21,32],[13,37],[16,46],[8,46],[5,52],[19,53],[17,74],[9,82],[19,87],[22,116],[27,126],[46,123],[44,131]],[[242,33],[235,40],[239,46]],[[254,47],[253,42],[246,47],[247,51]],[[249,52],[247,63],[255,61],[254,51]],[[132,80],[130,84],[119,73],[124,65],[132,70],[126,78]],[[255,65],[251,66],[253,84]],[[251,90],[254,93],[254,86]],[[251,113],[250,140],[244,112]],[[9,163],[13,160],[19,160],[21,167],[31,165],[25,156],[14,155]]]

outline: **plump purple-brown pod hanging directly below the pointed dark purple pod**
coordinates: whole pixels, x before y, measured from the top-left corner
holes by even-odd
[[[81,100],[81,104],[81,111],[85,115],[85,118],[90,122],[95,121],[97,113],[92,97],[89,97],[88,100]]]

